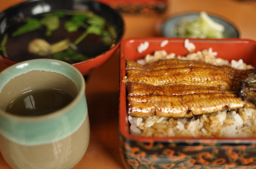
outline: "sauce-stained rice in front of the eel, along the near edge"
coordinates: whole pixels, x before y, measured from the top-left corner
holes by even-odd
[[[197,119],[129,116],[130,132],[146,137],[256,137],[255,113],[255,109],[241,108],[238,112],[219,111]]]

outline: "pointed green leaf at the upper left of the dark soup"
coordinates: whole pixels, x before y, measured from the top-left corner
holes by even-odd
[[[26,23],[20,26],[15,32],[12,33],[12,36],[19,36],[23,33],[34,31],[39,29],[42,26],[41,22],[37,18],[28,18]]]

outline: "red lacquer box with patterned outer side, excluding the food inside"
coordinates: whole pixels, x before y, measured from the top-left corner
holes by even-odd
[[[161,47],[164,40],[168,44]],[[139,53],[140,43],[149,42],[148,49]],[[243,59],[256,66],[256,42],[247,39],[189,39],[196,51],[208,49],[227,60]],[[120,151],[126,168],[255,168],[256,137],[201,138],[201,137],[139,137],[129,132],[126,108],[125,60],[138,60],[156,50],[185,56],[184,39],[136,38],[122,42],[120,53]]]

